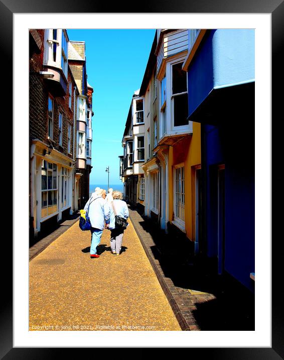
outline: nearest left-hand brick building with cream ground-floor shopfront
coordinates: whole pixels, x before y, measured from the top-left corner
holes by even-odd
[[[30,236],[74,211],[76,82],[64,29],[30,30]]]

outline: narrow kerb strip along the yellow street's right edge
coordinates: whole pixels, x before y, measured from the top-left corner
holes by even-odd
[[[154,260],[154,258],[152,256],[151,252],[149,251],[147,245],[145,244],[145,242],[143,240],[143,236],[139,232],[139,229],[138,229],[138,226],[137,226],[137,224],[135,222],[135,219],[131,216],[132,215],[130,213],[131,211],[134,211],[134,210],[129,211],[129,218],[131,220],[131,223],[132,223],[132,225],[133,225],[133,227],[134,227],[134,229],[136,231],[136,234],[137,234],[137,236],[138,236],[138,238],[139,238],[139,240],[141,242],[141,245],[143,246],[143,248],[144,248],[144,250],[146,252],[146,255],[147,255],[147,257],[148,257],[148,259],[149,259],[149,261],[150,261],[150,263],[151,263],[151,265],[153,267],[153,270],[154,270],[154,272],[155,272],[155,274],[156,274],[156,276],[157,276],[157,278],[159,280],[159,283],[160,283],[160,285],[161,285],[161,287],[162,287],[162,289],[163,289],[163,291],[164,291],[164,293],[165,293],[165,295],[166,295],[166,297],[167,297],[167,299],[169,301],[169,304],[171,305],[171,308],[172,308],[172,310],[174,312],[174,315],[175,315],[181,329],[183,331],[190,331],[191,329],[189,328],[189,325],[188,325],[185,317],[183,316],[183,314],[181,312],[181,309],[179,308],[173,294],[171,293],[170,288],[168,287],[167,283],[165,282],[163,274],[161,274],[158,266],[155,263],[155,260]],[[141,217],[141,219],[143,220],[142,217]],[[151,237],[151,235],[149,233],[148,233],[148,235]]]

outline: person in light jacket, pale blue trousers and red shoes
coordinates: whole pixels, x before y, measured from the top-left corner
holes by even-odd
[[[105,201],[105,190],[97,189],[87,201],[84,210],[88,212],[91,223],[90,257],[99,257],[97,246],[100,243],[105,223],[109,223],[109,206]]]

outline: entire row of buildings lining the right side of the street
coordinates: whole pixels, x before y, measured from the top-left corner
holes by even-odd
[[[125,200],[254,291],[254,30],[158,29],[135,96],[144,124],[130,108]],[[145,154],[136,177],[134,131]]]

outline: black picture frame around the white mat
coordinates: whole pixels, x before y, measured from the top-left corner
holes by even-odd
[[[68,6],[66,6],[68,4]],[[0,27],[1,27],[1,61],[2,69],[5,69],[5,72],[10,74],[13,73],[13,14],[15,13],[108,13],[109,10],[108,3],[97,4],[95,2],[75,2],[74,0],[69,0],[68,2],[63,2],[62,0],[49,0],[48,2],[40,1],[37,2],[31,0],[1,0],[0,1]],[[280,109],[281,104],[283,103],[283,92],[278,91],[277,84],[280,78],[283,76],[283,19],[284,19],[284,2],[283,0],[238,0],[238,2],[232,0],[192,0],[185,2],[183,0],[176,0],[175,2],[146,2],[141,6],[141,4],[133,4],[129,7],[127,3],[123,4],[117,2],[114,5],[111,5],[112,13],[270,13],[271,22],[272,22],[272,117],[276,119],[278,114],[282,114],[283,111]],[[282,75],[281,75],[282,74]],[[1,86],[2,99],[7,99],[8,102],[11,102],[10,109],[13,108],[12,100],[12,76],[9,77],[5,86]],[[283,85],[281,85],[282,87]],[[11,99],[11,100],[10,100]],[[6,103],[6,107],[9,106]],[[271,119],[272,119],[271,117]],[[11,119],[11,113],[9,114]],[[281,115],[282,118],[282,115]],[[277,119],[280,120],[280,119]],[[271,126],[271,124],[267,124]],[[277,134],[280,136],[280,132]],[[275,138],[274,138],[275,140]],[[276,155],[278,152],[281,153],[281,150],[277,148],[280,142],[275,140],[273,142],[272,151]],[[279,150],[279,151],[278,151]],[[274,157],[273,157],[274,159]],[[14,164],[15,166],[15,164]],[[266,169],[269,171],[270,169]],[[275,181],[279,179],[279,176],[275,176]],[[15,181],[15,178],[14,178]],[[279,195],[282,195],[281,188],[278,187],[277,194],[272,196],[271,192],[271,201],[281,198]],[[13,205],[15,206],[15,199]],[[279,200],[278,200],[279,201]],[[9,199],[11,203],[11,197]],[[276,227],[277,224],[281,224],[281,211],[275,212],[274,222]],[[15,226],[15,219],[14,219]],[[275,225],[274,225],[275,226]],[[277,229],[276,229],[277,230]],[[275,227],[274,231],[276,233]],[[281,232],[280,232],[281,234]],[[272,234],[271,234],[272,236]],[[11,235],[10,235],[11,237]],[[276,238],[272,246],[272,339],[271,348],[190,348],[190,355],[194,356],[197,354],[200,356],[210,356],[213,359],[270,359],[276,360],[284,358],[284,326],[283,326],[283,292],[281,291],[281,284],[283,283],[282,277],[282,262],[281,262],[281,251],[279,249],[281,243],[281,237]],[[75,356],[80,356],[82,349],[74,348],[14,348],[13,347],[13,251],[12,251],[12,241],[8,241],[9,236],[4,236],[2,238],[2,254],[5,254],[10,261],[4,265],[2,274],[5,276],[2,277],[2,308],[0,315],[0,356],[5,359],[33,359],[33,358],[50,358],[55,355],[62,355],[64,357],[68,356],[67,353],[72,351],[72,358]],[[267,239],[267,243],[269,239]],[[9,257],[10,254],[10,257]],[[9,271],[9,270],[10,271]],[[264,291],[264,290],[263,290]],[[267,289],[265,289],[267,291]],[[186,346],[185,346],[186,347]],[[84,350],[91,350],[93,355],[94,349],[85,348]],[[109,349],[113,350],[113,349]],[[135,348],[130,350],[136,350]],[[139,355],[143,355],[144,351],[147,349],[141,349]],[[80,351],[80,352],[79,352]],[[84,351],[85,352],[85,351]],[[129,352],[129,351],[127,351]],[[101,353],[103,354],[103,353]]]

